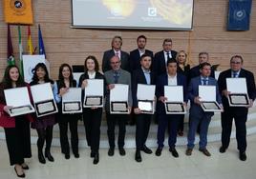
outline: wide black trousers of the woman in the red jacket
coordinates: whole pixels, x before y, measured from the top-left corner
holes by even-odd
[[[22,116],[15,117],[15,128],[5,128],[6,143],[11,166],[23,164],[32,157],[30,122]]]

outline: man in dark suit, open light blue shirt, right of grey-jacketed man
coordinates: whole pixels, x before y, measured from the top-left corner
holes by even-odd
[[[140,69],[134,70],[132,75],[133,105],[136,114],[136,155],[135,160],[141,162],[140,150],[145,153],[152,153],[151,149],[146,147],[146,140],[150,128],[151,114],[141,113],[138,107],[137,89],[138,84],[155,85],[155,74],[150,70],[152,57],[150,54],[142,54],[140,57]]]

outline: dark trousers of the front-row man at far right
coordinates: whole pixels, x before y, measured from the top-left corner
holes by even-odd
[[[244,152],[246,143],[246,121],[248,109],[246,108],[224,108],[222,112],[222,145],[226,149],[229,146],[233,119],[236,125],[237,149]]]

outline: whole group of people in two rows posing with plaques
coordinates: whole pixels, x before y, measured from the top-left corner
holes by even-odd
[[[137,39],[138,49],[128,54],[121,50],[122,39],[115,36],[112,40],[112,49],[103,54],[102,71],[99,72],[99,64],[95,56],[88,56],[84,61],[84,73],[76,83],[73,71],[70,65],[62,64],[59,68],[58,80],[53,82],[50,79],[48,70],[43,63],[39,63],[33,70],[31,84],[24,82],[20,70],[16,66],[9,66],[4,74],[0,85],[0,126],[5,129],[6,142],[10,154],[11,165],[14,165],[17,176],[25,177],[24,169],[29,169],[25,163],[25,158],[32,156],[31,151],[31,133],[36,129],[38,133],[37,149],[38,160],[45,164],[45,157],[53,162],[51,154],[51,145],[53,139],[53,126],[59,125],[61,152],[66,159],[70,158],[70,145],[68,140],[68,127],[71,131],[71,147],[75,158],[79,158],[78,152],[78,134],[77,122],[82,119],[84,122],[87,145],[91,148],[91,157],[93,163],[99,162],[99,141],[100,124],[102,118],[102,108],[83,108],[82,114],[62,113],[62,96],[68,92],[69,88],[79,87],[86,89],[88,79],[104,80],[105,95],[105,113],[107,120],[107,135],[109,140],[108,155],[115,154],[115,127],[118,125],[117,148],[120,155],[125,155],[125,132],[126,121],[128,117],[134,117],[136,120],[136,153],[135,160],[141,162],[141,151],[152,153],[152,149],[146,146],[146,140],[150,129],[153,114],[143,113],[139,109],[137,99],[137,89],[139,84],[156,85],[156,118],[158,122],[157,141],[158,148],[156,155],[160,156],[163,149],[165,130],[168,129],[169,151],[174,157],[179,157],[176,150],[177,134],[183,135],[183,114],[168,114],[165,111],[164,103],[168,100],[164,96],[164,86],[182,86],[183,105],[186,107],[190,101],[189,109],[189,129],[187,135],[186,155],[191,155],[195,135],[199,129],[200,143],[199,150],[206,156],[210,156],[207,146],[207,130],[213,112],[205,112],[201,108],[199,96],[199,86],[208,85],[216,87],[216,99],[222,112],[222,147],[220,152],[225,152],[230,141],[232,121],[236,124],[236,138],[239,149],[239,157],[242,161],[246,160],[246,119],[248,108],[252,107],[256,97],[255,81],[253,73],[243,69],[243,57],[234,55],[230,59],[230,69],[224,70],[218,81],[214,78],[214,70],[209,64],[209,55],[207,52],[199,54],[199,65],[190,69],[187,64],[187,54],[184,50],[179,52],[172,50],[172,40],[164,39],[162,50],[153,55],[151,50],[146,50],[146,37],[140,35]],[[227,101],[229,91],[226,89],[226,78],[243,77],[246,79],[247,94],[249,105],[247,107],[230,107]],[[11,117],[8,110],[11,108],[6,105],[4,89],[18,87],[27,87],[42,83],[51,83],[53,87],[53,96],[57,104],[58,113],[43,117],[36,117],[35,114],[25,114]],[[110,112],[110,91],[115,88],[115,84],[126,84],[129,86],[128,109],[131,114],[113,114]],[[83,92],[84,93],[84,92]],[[84,96],[83,96],[84,97]],[[32,97],[31,97],[32,100]],[[43,153],[44,143],[46,143]]]

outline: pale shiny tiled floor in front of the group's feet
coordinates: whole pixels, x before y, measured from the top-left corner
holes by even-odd
[[[53,148],[55,161],[42,165],[37,160],[36,146],[32,146],[32,159],[27,160],[30,169],[26,178],[32,179],[255,179],[256,178],[256,135],[247,137],[247,160],[238,159],[236,141],[232,140],[229,149],[222,154],[218,151],[220,143],[208,144],[211,157],[204,156],[194,149],[191,156],[184,154],[185,147],[179,147],[178,159],[172,157],[167,148],[160,157],[142,153],[142,162],[134,160],[135,149],[126,149],[120,156],[116,149],[114,157],[107,155],[107,149],[100,149],[100,161],[93,165],[89,149],[80,149],[80,158],[72,155],[64,159],[59,148]],[[156,149],[154,149],[155,151]],[[9,166],[9,155],[5,141],[0,141],[0,178],[16,178],[13,167]]]

